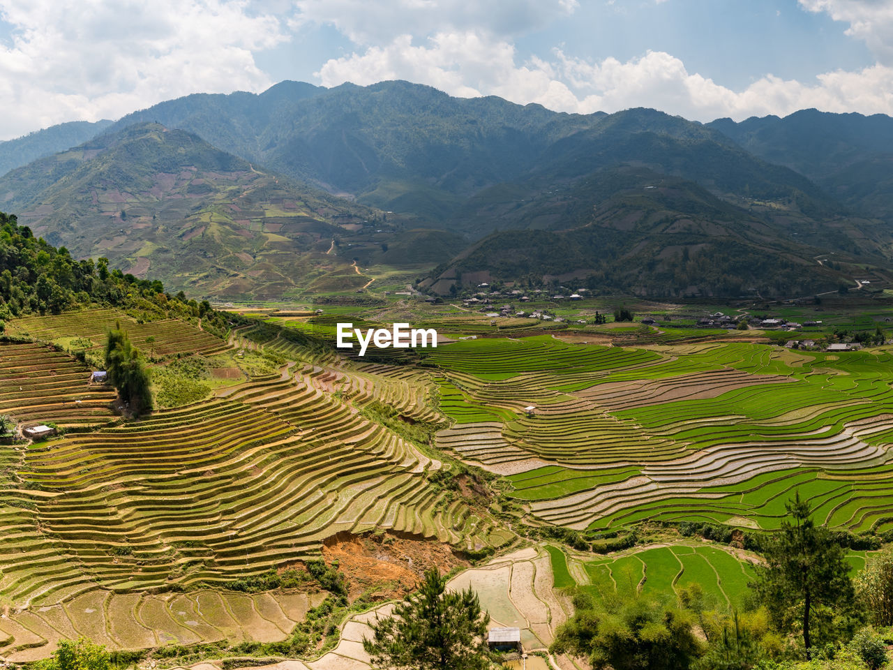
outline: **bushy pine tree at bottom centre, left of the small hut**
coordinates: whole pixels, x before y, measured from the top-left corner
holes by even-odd
[[[447,577],[432,568],[393,616],[371,625],[374,637],[363,640],[363,649],[376,667],[484,670],[491,667],[485,641],[489,620],[471,587],[447,592]]]

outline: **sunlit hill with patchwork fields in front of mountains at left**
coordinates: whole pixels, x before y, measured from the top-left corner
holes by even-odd
[[[381,249],[381,236],[402,230],[393,217],[157,124],[19,168],[0,179],[0,190],[22,222],[73,255],[104,256],[198,296],[280,299],[328,289],[330,275],[359,288],[368,278],[351,278],[355,249]],[[385,262],[438,263],[457,248],[394,247]]]

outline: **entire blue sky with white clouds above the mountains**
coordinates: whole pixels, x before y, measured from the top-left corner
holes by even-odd
[[[0,138],[285,79],[698,121],[893,114],[893,0],[0,0]]]

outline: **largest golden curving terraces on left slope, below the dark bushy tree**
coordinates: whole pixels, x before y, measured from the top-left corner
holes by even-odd
[[[308,375],[67,437],[23,456],[0,515],[0,596],[225,583],[389,528],[480,549],[508,540],[425,485],[440,464]]]

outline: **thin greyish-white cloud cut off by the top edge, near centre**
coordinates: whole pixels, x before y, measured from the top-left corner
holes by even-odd
[[[572,13],[578,0],[296,0],[295,5],[293,26],[330,24],[355,44],[385,46],[396,34],[519,35]]]

